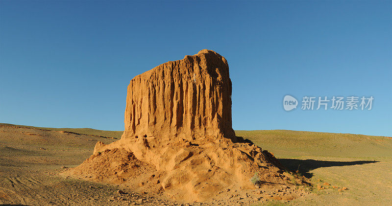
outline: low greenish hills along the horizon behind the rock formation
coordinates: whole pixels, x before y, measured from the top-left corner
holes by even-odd
[[[91,128],[48,128],[0,123],[0,125],[67,131],[85,135],[121,138],[123,131]],[[392,157],[392,137],[292,130],[236,130],[237,136],[253,141],[277,157],[343,157],[372,160]]]

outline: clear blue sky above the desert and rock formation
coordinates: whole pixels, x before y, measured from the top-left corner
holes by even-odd
[[[123,130],[129,81],[203,48],[229,63],[235,130],[392,136],[392,1],[0,0],[0,122]]]

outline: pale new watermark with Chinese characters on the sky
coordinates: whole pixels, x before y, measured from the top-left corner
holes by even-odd
[[[301,110],[371,110],[373,96],[304,96]],[[283,108],[286,111],[296,109],[298,101],[290,95],[283,98]]]

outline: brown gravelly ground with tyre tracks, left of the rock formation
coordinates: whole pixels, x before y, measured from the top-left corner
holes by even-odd
[[[89,157],[97,141],[116,139],[0,126],[0,204],[129,205],[168,203],[117,185],[59,176]],[[119,194],[118,190],[123,194]]]

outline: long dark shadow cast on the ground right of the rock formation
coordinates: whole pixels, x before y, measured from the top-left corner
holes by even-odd
[[[349,166],[357,164],[368,164],[378,161],[322,161],[322,160],[296,160],[296,159],[278,159],[288,170],[299,173],[306,178],[313,177],[311,170],[320,167]]]

